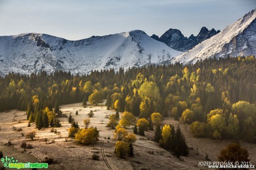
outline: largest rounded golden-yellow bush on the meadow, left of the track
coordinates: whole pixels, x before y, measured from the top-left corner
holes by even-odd
[[[83,144],[92,144],[99,137],[99,131],[97,128],[89,127],[87,129],[78,130],[75,135],[75,140]]]

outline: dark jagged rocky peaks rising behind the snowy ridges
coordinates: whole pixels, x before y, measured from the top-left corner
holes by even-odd
[[[151,37],[155,40],[165,43],[169,47],[178,51],[188,51],[189,49],[195,47],[195,45],[203,42],[204,40],[213,37],[220,32],[220,30],[215,30],[214,28],[208,30],[206,27],[201,28],[199,34],[194,36],[191,34],[189,38],[185,37],[179,29],[169,29],[159,38],[157,35],[153,34]]]

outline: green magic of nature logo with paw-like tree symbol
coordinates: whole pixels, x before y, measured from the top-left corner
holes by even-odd
[[[21,169],[21,168],[48,168],[48,163],[22,163],[19,162],[18,160],[11,157],[5,157],[5,158],[1,158],[1,163],[3,164],[3,166],[5,168],[16,168],[16,169]]]

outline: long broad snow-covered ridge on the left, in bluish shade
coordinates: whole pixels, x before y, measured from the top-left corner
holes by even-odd
[[[77,41],[27,33],[0,37],[0,75],[40,70],[87,74],[91,70],[160,63],[180,54],[181,51],[171,49],[141,30]]]

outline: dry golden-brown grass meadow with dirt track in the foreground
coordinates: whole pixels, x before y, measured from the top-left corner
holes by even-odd
[[[126,156],[125,159],[120,159],[114,153],[114,130],[106,127],[109,119],[105,118],[107,115],[114,114],[115,111],[106,110],[106,106],[87,106],[83,108],[81,103],[62,105],[60,109],[67,116],[71,114],[80,127],[84,127],[83,120],[88,118],[87,114],[92,110],[94,117],[90,118],[90,126],[96,126],[100,131],[99,141],[95,145],[85,146],[69,138],[67,130],[71,127],[71,124],[68,123],[67,117],[60,118],[62,127],[54,128],[57,131],[57,133],[54,133],[51,132],[51,128],[37,130],[33,123],[31,127],[27,127],[26,112],[12,110],[0,113],[0,150],[3,151],[4,155],[13,156],[20,162],[37,162],[43,161],[45,157],[53,158],[54,162],[50,164],[48,169],[206,169],[206,167],[198,166],[199,161],[205,161],[206,153],[210,159],[216,161],[219,151],[227,146],[229,142],[232,142],[215,141],[210,138],[194,138],[188,125],[180,124],[169,117],[164,120],[164,123],[173,123],[175,127],[180,125],[188,146],[193,148],[193,150],[190,149],[188,157],[179,159],[170,152],[163,150],[158,143],[150,140],[154,136],[154,132],[147,131],[145,137],[137,135],[137,141],[134,143],[135,156]],[[78,115],[75,115],[76,110]],[[16,131],[14,131],[14,128],[16,128]],[[18,132],[19,128],[22,128],[22,131]],[[22,133],[26,136],[31,131],[36,131],[35,140],[32,141],[22,136]],[[132,128],[127,128],[127,131],[132,132]],[[110,137],[110,140],[107,139],[108,137]],[[13,143],[13,146],[3,146],[3,143],[9,140]],[[33,148],[24,151],[20,147],[22,141],[31,144]],[[242,141],[240,143],[242,147],[247,148],[250,159],[255,165],[256,145]],[[93,160],[91,158],[92,154],[99,155],[100,160]]]

